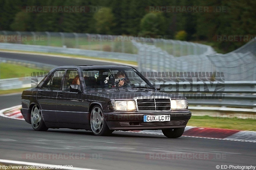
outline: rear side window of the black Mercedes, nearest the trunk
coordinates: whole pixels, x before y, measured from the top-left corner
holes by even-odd
[[[55,71],[51,77],[46,80],[44,85],[42,86],[42,90],[60,90],[61,81],[65,74],[65,70],[57,70]]]

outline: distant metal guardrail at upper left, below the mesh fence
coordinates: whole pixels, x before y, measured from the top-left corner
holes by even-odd
[[[0,49],[44,52],[44,53],[73,54],[73,55],[92,56],[92,57],[96,57],[96,58],[117,59],[117,60],[126,60],[126,61],[137,62],[137,54],[108,52],[108,51],[96,51],[96,50],[86,50],[86,49],[77,49],[77,48],[63,48],[63,47],[51,47],[51,46],[40,46],[40,45],[0,43]]]

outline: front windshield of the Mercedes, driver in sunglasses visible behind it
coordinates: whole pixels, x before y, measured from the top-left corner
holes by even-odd
[[[104,68],[83,69],[87,89],[97,88],[154,88],[146,79],[140,77],[134,69]]]

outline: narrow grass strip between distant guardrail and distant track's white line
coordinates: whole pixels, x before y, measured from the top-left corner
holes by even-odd
[[[103,62],[104,61],[119,62],[119,63],[124,63],[124,65],[125,64],[138,65],[138,63],[134,62],[134,61],[118,60],[118,59],[106,59],[106,58],[90,57],[90,56],[84,56],[84,55],[72,55],[72,54],[60,54],[60,53],[44,53],[44,52],[31,52],[31,51],[5,50],[5,49],[0,49],[0,50],[1,51],[13,51],[13,52],[36,53],[36,54],[48,54],[48,55],[62,55],[62,56],[68,56],[68,57],[79,57],[79,58],[102,60]]]

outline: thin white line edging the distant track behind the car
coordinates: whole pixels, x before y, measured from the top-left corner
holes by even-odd
[[[3,50],[0,50],[0,52],[3,52],[3,53],[14,53],[14,54],[28,54],[28,55],[42,55],[42,56],[60,57],[60,58],[69,58],[69,59],[78,59],[78,60],[89,60],[89,61],[104,62],[104,63],[114,63],[114,64],[123,64],[123,65],[125,64],[125,65],[132,66],[132,67],[138,67],[138,65],[125,63],[125,61],[122,63],[122,62],[114,62],[114,61],[109,61],[109,60],[104,60],[104,59],[82,58],[83,55],[81,55],[81,57],[71,57],[71,56],[65,56],[65,55],[54,55],[54,54],[43,54],[43,53],[29,53],[29,52],[18,52],[18,51],[17,52],[13,52],[13,51],[3,51]],[[69,55],[69,54],[66,54],[66,55]]]

